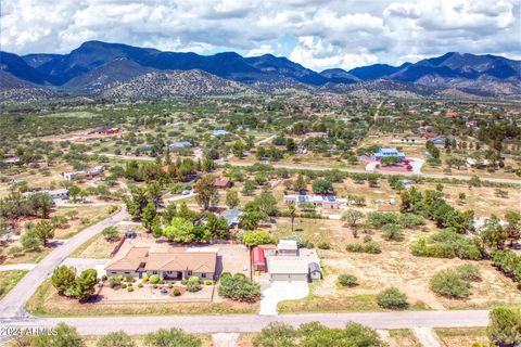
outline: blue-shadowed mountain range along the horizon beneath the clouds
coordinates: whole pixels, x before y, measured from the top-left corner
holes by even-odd
[[[165,52],[87,41],[68,54],[16,55],[0,51],[0,91],[107,98],[169,98],[280,88],[346,92],[357,89],[440,91],[487,97],[521,94],[521,61],[449,52],[399,66],[374,64],[317,73],[283,56],[244,57]],[[431,89],[429,89],[431,88]],[[23,99],[23,98],[15,98]]]

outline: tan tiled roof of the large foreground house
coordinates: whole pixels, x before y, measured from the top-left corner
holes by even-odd
[[[185,247],[155,246],[125,241],[105,266],[109,271],[193,271],[215,272],[217,249],[190,252]]]

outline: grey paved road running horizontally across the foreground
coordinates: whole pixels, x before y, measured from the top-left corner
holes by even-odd
[[[123,330],[129,334],[145,334],[157,329],[180,327],[189,333],[245,333],[258,332],[266,324],[279,321],[293,325],[319,321],[331,327],[342,327],[354,321],[373,329],[410,327],[469,327],[488,324],[488,311],[401,311],[368,313],[308,313],[256,316],[148,316],[148,317],[85,317],[85,318],[37,318],[4,320],[7,326],[53,326],[59,322],[74,325],[79,333],[88,335],[106,334]]]

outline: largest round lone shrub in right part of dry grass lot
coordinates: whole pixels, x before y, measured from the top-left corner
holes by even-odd
[[[431,291],[449,298],[465,298],[470,295],[470,282],[454,269],[435,273],[429,284]]]

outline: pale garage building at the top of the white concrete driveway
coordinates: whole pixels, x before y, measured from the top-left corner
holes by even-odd
[[[268,257],[269,279],[272,282],[307,282],[308,266],[298,257]]]

